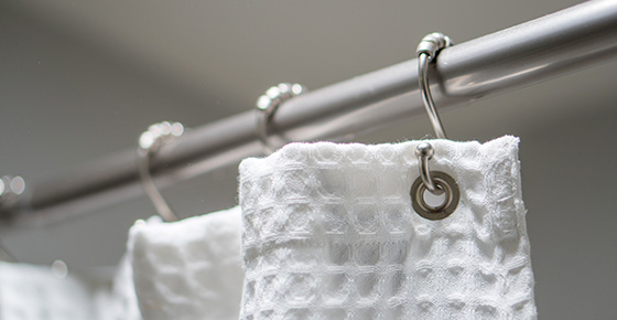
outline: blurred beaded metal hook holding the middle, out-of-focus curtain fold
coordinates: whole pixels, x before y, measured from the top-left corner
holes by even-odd
[[[161,149],[161,146],[169,143],[183,134],[184,126],[182,124],[163,121],[150,126],[148,130],[139,137],[138,167],[141,185],[143,186],[148,198],[150,198],[150,201],[152,201],[156,212],[165,222],[177,221],[178,217],[170,207],[159,189],[156,189],[154,180],[150,174],[150,160],[152,160],[152,158]]]

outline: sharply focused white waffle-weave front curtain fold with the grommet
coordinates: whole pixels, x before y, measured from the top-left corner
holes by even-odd
[[[518,138],[432,140],[461,189],[413,212],[419,141],[291,143],[240,164],[240,319],[535,319]]]

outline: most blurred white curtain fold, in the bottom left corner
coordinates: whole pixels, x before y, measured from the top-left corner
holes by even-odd
[[[112,288],[50,266],[0,262],[0,320],[140,320],[131,266],[118,267]]]

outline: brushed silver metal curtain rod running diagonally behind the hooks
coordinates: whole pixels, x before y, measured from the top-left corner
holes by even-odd
[[[616,56],[617,1],[589,1],[443,50],[431,89],[440,107],[463,105]],[[290,141],[336,139],[423,114],[416,66],[413,58],[296,97],[278,110],[274,128]],[[165,186],[261,151],[249,110],[163,147],[152,169]],[[13,223],[46,223],[138,196],[143,191],[136,163],[134,150],[102,159],[35,185],[30,199],[0,215]]]

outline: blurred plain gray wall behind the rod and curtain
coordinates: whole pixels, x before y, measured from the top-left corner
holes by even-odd
[[[296,81],[317,88],[403,61],[418,39],[433,29],[464,41],[573,1],[448,4],[459,7],[452,8],[456,14],[444,12],[437,21],[420,14],[426,11],[415,8],[419,3],[390,1],[374,8],[376,4],[344,2],[230,2],[203,11],[210,18],[203,22],[188,14],[188,9],[173,13],[162,7],[173,4],[154,2],[142,9],[160,7],[166,12],[161,14],[167,14],[161,24],[186,28],[177,22],[185,17],[183,12],[196,23],[186,29],[186,39],[178,40],[155,33],[159,24],[152,22],[153,33],[144,36],[175,45],[159,56],[149,53],[154,42],[144,40],[141,46],[131,46],[128,40],[134,30],[128,30],[125,38],[106,33],[113,29],[102,28],[107,24],[98,22],[96,14],[91,25],[102,26],[88,29],[94,9],[87,11],[79,7],[83,4],[76,7],[85,11],[77,12],[62,7],[68,1],[58,1],[59,9],[34,0],[2,1],[0,174],[21,174],[29,182],[62,177],[101,156],[136,146],[139,134],[152,122],[206,124],[251,108],[257,96],[275,82]],[[446,6],[432,2],[422,6],[429,6],[429,12]],[[186,6],[187,1],[177,3]],[[345,13],[345,6],[353,12]],[[100,14],[113,20],[112,9],[99,8]],[[320,13],[327,10],[334,13]],[[216,18],[217,13],[221,17]],[[116,23],[128,21],[127,14],[118,12]],[[289,33],[288,42],[280,41],[278,32],[282,31],[275,28],[284,14],[289,21],[283,21],[282,30]],[[324,25],[313,25],[314,21]],[[203,34],[199,23],[207,29]],[[423,26],[412,28],[416,25]],[[210,51],[199,36],[227,51]],[[242,36],[253,38],[252,42]],[[192,42],[198,43],[193,46]],[[188,60],[195,71],[178,62],[182,60]],[[617,223],[616,74],[617,63],[613,62],[443,114],[453,139],[521,137],[523,196],[541,319],[617,317],[617,233],[613,231]],[[427,120],[421,117],[358,141],[397,141],[427,132]],[[235,168],[212,172],[174,186],[165,195],[183,216],[225,209],[236,203],[236,174]],[[138,199],[46,227],[1,230],[0,238],[22,262],[64,259],[76,273],[94,273],[113,266],[125,252],[132,222],[152,214],[149,202]]]

